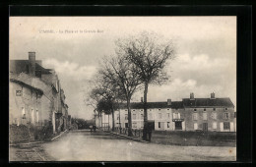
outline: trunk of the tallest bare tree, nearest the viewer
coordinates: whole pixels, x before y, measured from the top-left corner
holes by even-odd
[[[148,95],[148,87],[149,83],[145,83],[144,87],[144,101],[143,101],[143,108],[144,108],[144,128],[143,128],[143,136],[142,139],[147,140],[147,134],[148,134],[148,112],[147,112],[147,95]]]

